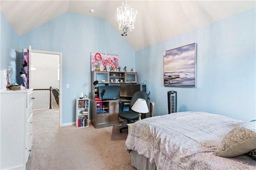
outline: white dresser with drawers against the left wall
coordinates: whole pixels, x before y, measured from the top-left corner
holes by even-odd
[[[0,92],[0,169],[26,169],[33,141],[33,89]]]

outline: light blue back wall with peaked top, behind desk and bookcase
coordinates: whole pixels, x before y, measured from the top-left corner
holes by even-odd
[[[90,95],[90,52],[117,54],[121,67],[135,68],[135,51],[108,22],[70,12],[20,36],[20,51],[29,45],[62,52],[62,123],[75,122],[79,93]]]

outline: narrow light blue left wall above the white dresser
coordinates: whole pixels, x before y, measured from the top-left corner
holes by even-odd
[[[0,48],[0,68],[8,69],[8,66],[13,69],[13,73],[11,74],[10,83],[18,83],[20,70],[19,65],[20,62],[16,63],[16,59],[18,60],[19,53],[19,36],[10,26],[4,15],[1,13],[1,48]]]

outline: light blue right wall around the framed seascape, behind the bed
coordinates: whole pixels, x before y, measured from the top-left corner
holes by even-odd
[[[136,51],[139,82],[148,82],[154,115],[168,114],[167,91],[177,111],[256,118],[256,8]],[[197,87],[164,87],[163,51],[197,43]],[[144,63],[144,64],[141,64]]]

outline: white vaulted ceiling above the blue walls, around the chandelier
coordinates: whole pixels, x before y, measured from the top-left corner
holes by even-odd
[[[118,30],[120,0],[1,0],[0,8],[19,36],[60,16],[74,12],[107,20]],[[123,37],[137,51],[256,7],[255,0],[128,0],[138,10],[135,28]],[[90,9],[94,9],[92,14]],[[121,35],[120,35],[121,36]]]

